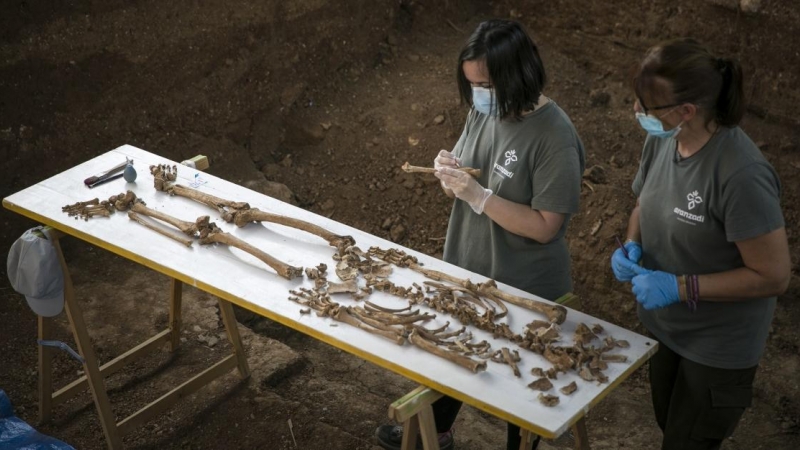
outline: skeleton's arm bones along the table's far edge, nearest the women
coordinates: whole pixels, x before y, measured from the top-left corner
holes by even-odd
[[[424,269],[422,266],[417,264],[416,258],[406,255],[404,252],[395,249],[383,250],[378,247],[371,247],[369,249],[369,254],[378,257],[380,259],[383,259],[386,262],[395,264],[399,267],[407,267],[411,270],[414,270],[416,272],[425,275],[430,279],[436,281],[447,281],[449,283],[462,286],[466,289],[474,290],[481,295],[491,298],[492,300],[495,301],[497,301],[498,299],[504,300],[513,305],[517,305],[544,314],[545,316],[547,316],[550,322],[562,324],[567,319],[567,308],[564,308],[561,305],[544,303],[538,300],[533,300],[530,298],[520,297],[517,295],[509,294],[507,292],[503,292],[497,288],[497,284],[495,283],[494,280],[488,280],[484,283],[475,284],[470,280],[462,280],[461,278],[448,275],[444,272],[439,272],[437,270],[431,270],[431,269]]]

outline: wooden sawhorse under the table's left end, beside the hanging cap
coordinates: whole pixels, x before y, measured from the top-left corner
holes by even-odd
[[[172,279],[172,289],[169,300],[169,328],[142,342],[136,347],[117,356],[113,360],[99,366],[97,356],[89,340],[89,333],[83,313],[75,300],[75,290],[72,285],[72,277],[69,268],[61,251],[59,239],[63,234],[55,229],[50,229],[48,235],[56,249],[61,268],[64,271],[64,309],[67,311],[72,335],[78,346],[78,352],[83,357],[84,376],[53,393],[52,380],[52,347],[39,345],[39,420],[47,421],[51,417],[54,405],[62,403],[78,393],[87,386],[92,392],[97,414],[106,436],[108,448],[112,450],[122,448],[122,436],[129,433],[136,427],[152,419],[159,413],[175,404],[181,398],[197,391],[207,385],[212,380],[230,372],[234,368],[239,369],[242,379],[250,376],[250,368],[247,365],[247,358],[244,347],[239,336],[239,329],[236,327],[236,317],[233,314],[231,304],[223,299],[219,300],[219,310],[222,322],[228,334],[228,340],[233,346],[233,353],[223,358],[218,363],[195,375],[175,389],[162,395],[159,399],[136,411],[130,416],[119,422],[115,421],[114,412],[111,410],[111,403],[106,392],[104,378],[115,372],[131,361],[142,358],[152,353],[160,345],[169,343],[170,351],[174,352],[180,344],[180,323],[181,323],[181,294],[183,283]],[[39,339],[48,340],[52,334],[53,319],[39,316]]]

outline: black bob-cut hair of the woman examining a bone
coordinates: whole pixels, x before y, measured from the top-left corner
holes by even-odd
[[[488,20],[472,32],[458,57],[456,78],[461,100],[472,106],[472,86],[464,61],[484,60],[494,86],[498,115],[519,120],[539,102],[547,78],[533,40],[517,22]]]

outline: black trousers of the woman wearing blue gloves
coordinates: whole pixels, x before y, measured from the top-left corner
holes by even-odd
[[[757,368],[709,367],[659,344],[650,359],[650,389],[664,432],[661,449],[719,449],[750,406]]]

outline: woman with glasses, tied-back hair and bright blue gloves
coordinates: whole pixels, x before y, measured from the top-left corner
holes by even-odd
[[[750,406],[776,296],[789,284],[780,182],[738,127],[742,70],[691,39],[651,48],[633,78],[647,131],[625,250],[662,449],[718,449]]]

